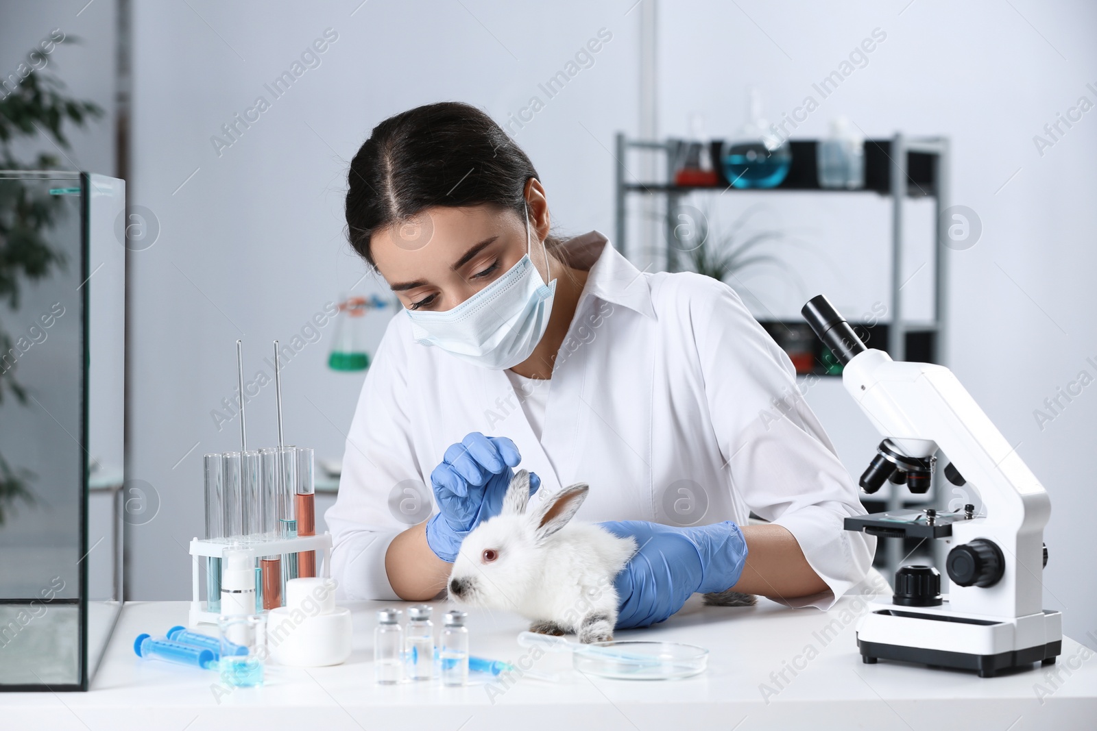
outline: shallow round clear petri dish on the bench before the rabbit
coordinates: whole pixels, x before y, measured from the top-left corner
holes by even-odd
[[[703,673],[709,651],[695,644],[638,640],[595,642],[572,654],[580,673],[620,681],[674,681]]]

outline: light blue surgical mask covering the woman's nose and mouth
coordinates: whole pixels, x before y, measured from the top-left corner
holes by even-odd
[[[542,251],[544,242],[542,241]],[[407,310],[411,336],[493,370],[530,357],[548,328],[556,279],[545,284],[530,259],[530,217],[525,210],[525,254],[506,274],[444,312]],[[545,253],[547,265],[548,256]]]

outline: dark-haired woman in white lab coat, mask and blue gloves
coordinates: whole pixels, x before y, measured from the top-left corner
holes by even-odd
[[[347,224],[405,308],[327,513],[348,596],[437,596],[519,461],[532,489],[588,482],[578,517],[636,537],[618,627],[699,591],[827,608],[866,574],[875,539],[842,529],[864,513],[856,489],[735,293],[640,272],[598,232],[552,237],[536,170],[486,114],[441,103],[377,125]],[[407,527],[428,482],[437,512]]]

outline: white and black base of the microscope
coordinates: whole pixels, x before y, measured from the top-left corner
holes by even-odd
[[[872,602],[857,627],[864,663],[896,660],[938,667],[973,670],[980,677],[1053,663],[1062,652],[1062,614],[1043,610],[994,619],[954,612],[946,597],[936,607]]]

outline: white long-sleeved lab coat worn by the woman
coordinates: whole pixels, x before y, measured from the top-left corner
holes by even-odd
[[[828,608],[869,571],[875,538],[842,529],[857,489],[796,386],[784,352],[727,285],[642,273],[592,231],[567,242],[589,269],[535,438],[505,372],[415,343],[388,324],[347,439],[326,514],[332,574],[348,598],[396,598],[384,557],[430,515],[430,473],[470,432],[507,436],[542,490],[587,482],[583,521],[788,528],[829,591]]]

